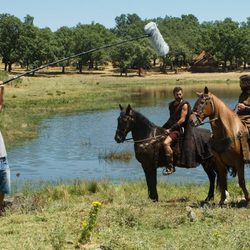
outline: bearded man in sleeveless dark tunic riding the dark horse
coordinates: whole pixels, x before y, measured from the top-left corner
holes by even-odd
[[[190,111],[189,103],[183,100],[183,90],[181,87],[175,87],[173,95],[175,100],[169,104],[170,117],[163,125],[166,128],[167,134],[167,138],[163,142],[167,158],[167,166],[166,170],[163,171],[163,175],[170,175],[175,172],[171,145],[180,138],[181,130],[185,129],[188,123],[188,114]]]

